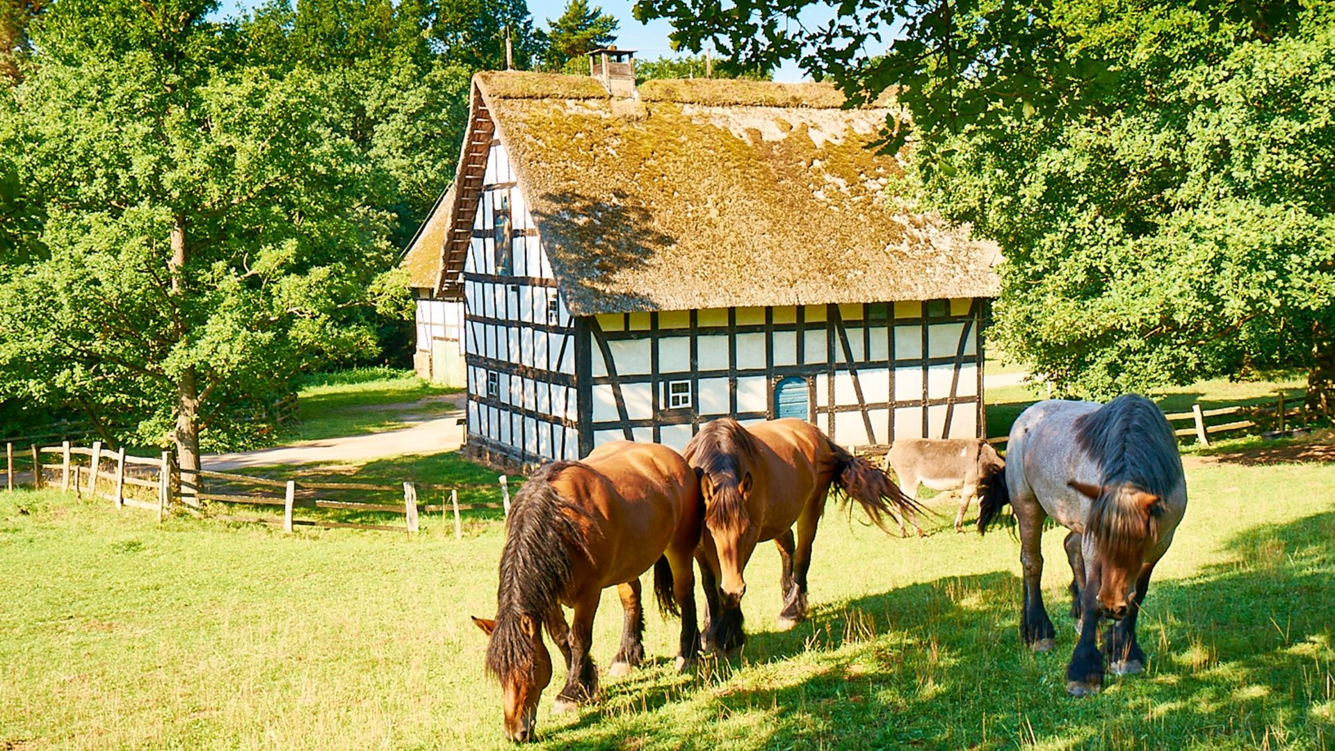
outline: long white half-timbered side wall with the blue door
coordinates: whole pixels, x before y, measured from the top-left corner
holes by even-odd
[[[581,454],[610,440],[681,449],[724,416],[773,420],[794,377],[806,418],[846,446],[979,437],[983,314],[961,298],[581,318]]]

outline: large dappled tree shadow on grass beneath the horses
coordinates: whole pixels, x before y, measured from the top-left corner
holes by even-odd
[[[1049,593],[1057,648],[1033,655],[1019,643],[1019,579],[993,572],[818,608],[693,676],[610,683],[551,740],[704,748],[713,723],[736,723],[722,732],[746,748],[1328,747],[1335,513],[1252,528],[1226,551],[1227,563],[1151,587],[1139,628],[1149,664],[1097,698],[1065,696],[1068,601]]]

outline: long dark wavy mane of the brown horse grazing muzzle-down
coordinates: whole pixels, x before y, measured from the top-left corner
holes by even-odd
[[[531,669],[533,640],[523,633],[522,616],[542,628],[553,608],[559,607],[573,577],[571,556],[589,555],[583,533],[566,512],[587,516],[557,493],[551,481],[577,461],[557,461],[538,470],[515,493],[506,522],[501,552],[501,584],[497,588],[497,625],[487,641],[486,667],[509,680]]]

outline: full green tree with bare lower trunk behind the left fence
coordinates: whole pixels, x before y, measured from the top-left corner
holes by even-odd
[[[175,444],[187,484],[394,297],[383,174],[318,75],[248,64],[214,9],[53,4],[0,128],[35,227],[0,247],[0,397]]]

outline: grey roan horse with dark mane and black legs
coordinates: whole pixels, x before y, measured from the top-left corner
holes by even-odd
[[[1049,400],[1024,410],[1011,428],[1005,482],[993,482],[983,500],[979,532],[1007,502],[1020,528],[1024,643],[1045,652],[1056,636],[1040,588],[1040,539],[1051,516],[1071,531],[1065,540],[1075,575],[1071,615],[1080,631],[1067,665],[1067,692],[1099,692],[1104,656],[1116,675],[1141,671],[1145,655],[1136,644],[1136,615],[1149,573],[1187,510],[1177,440],[1159,408],[1127,394],[1107,405]],[[1115,623],[1103,635],[1100,653],[1104,616]]]

